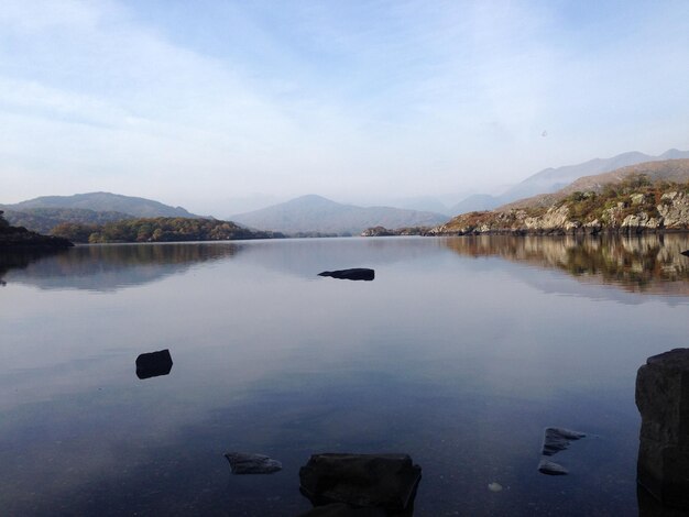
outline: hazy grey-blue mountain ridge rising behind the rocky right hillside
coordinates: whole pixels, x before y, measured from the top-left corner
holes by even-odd
[[[636,151],[619,154],[612,158],[594,158],[577,165],[566,165],[557,168],[546,168],[529,176],[511,187],[500,196],[473,195],[451,207],[455,215],[475,210],[492,210],[518,199],[528,198],[538,194],[555,193],[582,176],[609,173],[621,167],[644,162],[663,160],[689,158],[689,151],[671,148],[659,156],[649,156]]]

